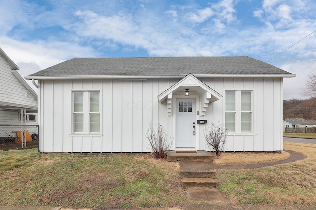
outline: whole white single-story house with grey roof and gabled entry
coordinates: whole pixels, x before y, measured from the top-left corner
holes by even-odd
[[[74,58],[26,79],[38,80],[43,152],[150,152],[150,123],[171,150],[210,150],[204,131],[223,123],[225,151],[282,151],[284,77],[238,56]]]

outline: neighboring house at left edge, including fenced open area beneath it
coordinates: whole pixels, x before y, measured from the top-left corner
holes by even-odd
[[[26,147],[38,137],[37,94],[18,70],[0,48],[0,150]]]

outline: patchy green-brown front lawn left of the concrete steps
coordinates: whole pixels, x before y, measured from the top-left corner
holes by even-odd
[[[177,165],[149,155],[0,152],[0,206],[169,207],[186,202]]]

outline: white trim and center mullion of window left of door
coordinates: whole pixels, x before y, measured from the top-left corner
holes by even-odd
[[[83,132],[74,132],[74,93],[83,92]],[[100,132],[90,132],[90,92],[99,92]],[[70,136],[102,136],[102,92],[100,90],[72,90]]]

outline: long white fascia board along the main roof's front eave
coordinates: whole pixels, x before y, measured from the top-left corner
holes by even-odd
[[[151,79],[151,78],[183,78],[186,74],[164,75],[67,75],[67,76],[26,76],[27,80],[82,80],[82,79]],[[195,74],[197,78],[284,78],[295,77],[296,74]]]

